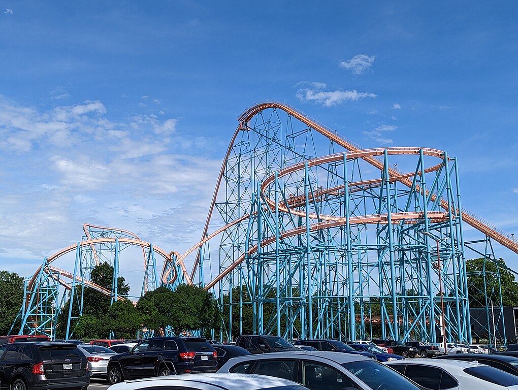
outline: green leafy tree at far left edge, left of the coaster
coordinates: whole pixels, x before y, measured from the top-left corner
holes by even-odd
[[[23,302],[23,278],[15,272],[0,271],[0,335],[7,335]],[[13,331],[18,333],[20,325]]]

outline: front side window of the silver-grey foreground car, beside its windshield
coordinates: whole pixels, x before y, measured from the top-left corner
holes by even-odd
[[[316,362],[303,362],[303,385],[311,390],[341,390],[344,387],[360,389],[346,374],[333,367]]]

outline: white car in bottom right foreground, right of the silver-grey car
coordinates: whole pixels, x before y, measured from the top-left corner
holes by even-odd
[[[446,363],[448,362],[448,363]],[[387,366],[426,388],[448,390],[518,389],[518,377],[494,367],[461,360],[412,359]]]

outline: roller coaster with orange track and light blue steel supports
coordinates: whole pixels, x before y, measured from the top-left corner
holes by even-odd
[[[496,264],[492,240],[515,253],[518,243],[462,208],[455,157],[430,148],[362,149],[277,102],[248,108],[238,123],[199,242],[183,254],[166,252],[126,230],[85,224],[80,242],[45,258],[27,281],[20,333],[52,335],[68,296],[81,315],[84,288],[128,298],[118,294],[120,258],[140,248],[141,294],[178,283],[213,292],[224,313],[221,339],[241,333],[251,311],[254,333],[289,339],[378,331],[436,342],[444,319],[449,341],[471,342],[465,248]],[[465,241],[464,224],[482,238]],[[51,265],[74,251],[73,271]],[[99,261],[113,265],[111,291],[89,280]],[[496,305],[493,322],[501,323],[495,272],[480,306],[488,316]],[[72,306],[67,337],[77,321]]]

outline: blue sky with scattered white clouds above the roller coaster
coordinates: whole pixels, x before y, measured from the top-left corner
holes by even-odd
[[[30,276],[85,222],[188,249],[236,118],[263,99],[365,148],[447,151],[464,207],[518,236],[517,15],[509,1],[2,0],[0,268]]]

